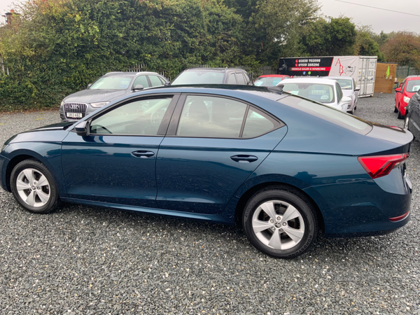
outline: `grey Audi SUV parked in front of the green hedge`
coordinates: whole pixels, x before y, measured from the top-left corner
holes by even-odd
[[[126,94],[167,83],[165,76],[155,72],[109,72],[86,90],[64,97],[59,116],[62,121],[79,120]]]

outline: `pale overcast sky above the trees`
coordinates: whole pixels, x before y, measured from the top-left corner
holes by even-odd
[[[94,0],[92,0],[94,1]],[[293,0],[290,0],[293,1]],[[343,0],[345,3],[337,0],[318,0],[322,6],[321,13],[324,15],[338,18],[344,15],[352,19],[356,26],[372,25],[374,32],[384,31],[414,31],[420,33],[420,0]],[[18,3],[18,0],[0,0],[0,13],[10,10],[12,3]],[[351,4],[356,3],[356,4]],[[362,4],[364,6],[358,6]],[[374,6],[377,8],[367,8],[365,6]],[[386,10],[395,10],[404,13],[389,12]],[[1,19],[4,22],[4,18]]]

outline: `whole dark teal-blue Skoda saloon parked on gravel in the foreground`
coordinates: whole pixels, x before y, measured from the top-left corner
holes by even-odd
[[[36,214],[73,202],[241,225],[276,258],[302,254],[320,230],[345,237],[405,225],[412,134],[276,89],[130,94],[8,139],[1,186]]]

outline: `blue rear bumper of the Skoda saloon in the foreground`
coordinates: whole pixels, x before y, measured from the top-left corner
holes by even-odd
[[[383,235],[401,228],[410,218],[404,215],[411,209],[412,186],[400,169],[381,179],[312,188],[330,206],[321,210],[328,237]],[[401,220],[390,220],[399,216]]]

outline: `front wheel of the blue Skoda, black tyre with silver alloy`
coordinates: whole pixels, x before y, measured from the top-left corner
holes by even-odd
[[[27,211],[48,214],[59,204],[57,186],[50,171],[37,160],[24,160],[12,171],[13,196]]]

